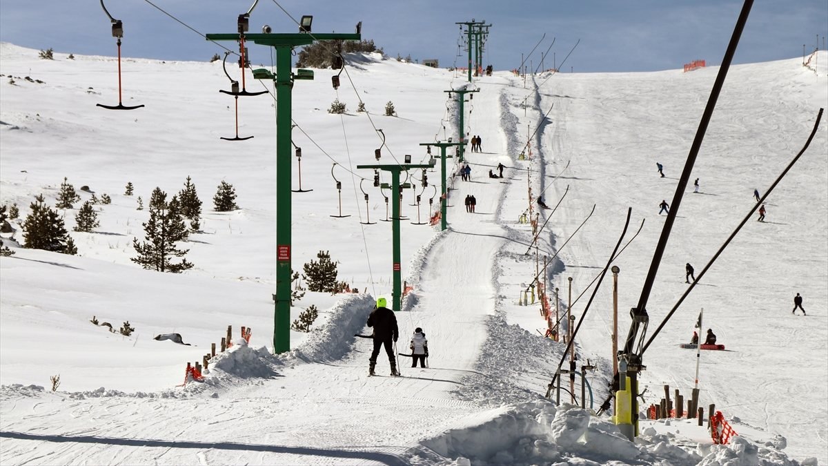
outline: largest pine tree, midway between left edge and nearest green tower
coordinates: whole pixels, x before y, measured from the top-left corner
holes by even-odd
[[[158,191],[161,192],[160,189]],[[155,192],[153,195],[155,196]],[[166,193],[161,192],[161,195],[159,198],[166,199]],[[176,243],[186,240],[189,235],[180,212],[181,205],[175,196],[169,203],[162,202],[159,208],[150,207],[150,219],[143,223],[145,240],[142,243],[139,243],[137,238],[132,240],[132,246],[138,253],[137,257],[131,259],[132,262],[142,265],[144,269],[172,274],[180,274],[193,267],[186,259],[182,259],[179,263],[171,262],[174,258],[183,257],[190,251],[176,248]]]

